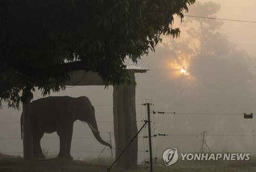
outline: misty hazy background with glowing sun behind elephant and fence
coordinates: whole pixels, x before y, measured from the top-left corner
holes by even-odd
[[[253,0],[243,3],[238,0],[197,1],[187,15],[256,21],[255,6]],[[256,24],[185,16],[182,24],[177,18],[174,26],[180,27],[181,36],[178,39],[163,37],[156,52],[144,57],[151,70],[136,74],[138,128],[142,125],[140,120],[145,119],[143,99],[152,99],[151,110],[190,113],[152,115],[153,133],[169,134],[153,139],[153,156],[161,157],[163,150],[170,147],[177,147],[179,152],[199,151],[202,131],[207,132],[206,143],[213,152],[254,155],[255,119],[243,119],[243,113],[256,113]],[[113,132],[112,94],[113,87],[77,86],[51,96],[89,97],[95,106],[100,134],[104,140],[109,140],[108,132]],[[34,93],[34,100],[38,98],[41,98],[40,92]],[[22,155],[21,112],[22,108],[17,111],[7,106],[0,110],[1,153]],[[144,152],[147,150],[147,141],[143,139],[146,133],[145,130],[139,135],[139,162],[148,157]],[[41,145],[47,152],[57,154],[57,135],[45,134]],[[74,124],[71,149],[74,158],[95,158],[103,147],[86,123]],[[110,150],[101,156],[110,156]]]

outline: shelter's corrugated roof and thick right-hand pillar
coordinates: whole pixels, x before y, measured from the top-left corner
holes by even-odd
[[[129,71],[132,81],[135,81],[135,73],[145,73],[149,70],[143,58],[137,63],[130,58],[124,59],[124,65]],[[104,85],[98,73],[74,71],[65,85]],[[116,157],[120,155],[124,147],[138,132],[136,123],[136,85],[119,85],[113,91],[113,119]],[[117,162],[118,166],[124,168],[136,168],[138,159],[138,139],[135,139],[124,155]]]

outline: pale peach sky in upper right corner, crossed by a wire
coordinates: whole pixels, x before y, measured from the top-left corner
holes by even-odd
[[[198,2],[208,2],[200,0]],[[217,18],[250,20],[256,22],[256,1],[254,0],[214,0],[212,2],[221,5],[221,10],[216,14]],[[240,23],[225,21],[221,32],[229,36],[230,41],[238,45],[239,48],[246,50],[251,56],[256,56],[255,23]]]

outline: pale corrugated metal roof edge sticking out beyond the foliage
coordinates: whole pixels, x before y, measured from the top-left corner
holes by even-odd
[[[124,59],[124,65],[126,65],[126,69],[146,70],[146,71],[150,70],[150,68],[148,68],[147,66],[145,59],[143,58],[137,59],[137,63],[136,63],[136,62],[133,62],[131,58],[126,57]]]

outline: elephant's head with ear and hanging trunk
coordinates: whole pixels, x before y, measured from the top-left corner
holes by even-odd
[[[95,110],[91,101],[87,97],[78,97],[76,101],[72,102],[69,106],[70,112],[75,119],[87,122],[91,128],[94,137],[103,145],[112,148],[111,144],[105,142],[99,135],[98,126],[95,118]]]

